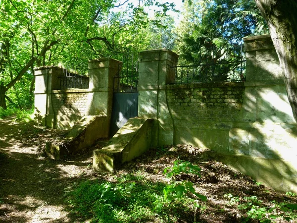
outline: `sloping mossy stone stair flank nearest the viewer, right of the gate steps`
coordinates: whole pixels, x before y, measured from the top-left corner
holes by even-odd
[[[152,125],[152,119],[130,118],[101,150],[94,150],[94,170],[113,171],[147,151]]]

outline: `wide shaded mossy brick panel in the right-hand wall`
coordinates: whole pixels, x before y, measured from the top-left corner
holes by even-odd
[[[242,108],[243,83],[170,86],[168,106],[173,119],[234,121]]]

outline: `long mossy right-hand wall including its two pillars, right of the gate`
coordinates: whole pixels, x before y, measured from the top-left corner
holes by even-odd
[[[278,56],[269,35],[244,42],[245,83],[172,85],[168,66],[155,61],[160,52],[143,52],[139,80],[154,82],[140,81],[139,116],[155,119],[157,146],[210,149],[216,159],[258,182],[297,192],[297,123]],[[166,54],[177,62],[177,55]]]

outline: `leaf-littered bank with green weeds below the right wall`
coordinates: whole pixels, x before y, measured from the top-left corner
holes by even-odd
[[[180,149],[156,149],[149,153],[143,162],[134,161],[117,173],[103,174],[99,175],[100,179],[81,182],[66,197],[70,206],[68,211],[79,217],[79,221],[88,220],[90,223],[273,223],[297,220],[294,193],[279,196],[280,193],[273,190],[265,192],[267,188],[263,185],[209,160],[200,160],[199,167],[203,169],[200,172],[200,168],[196,167],[199,161],[178,161],[178,157],[185,155]],[[227,170],[230,175],[236,175],[235,178],[222,185],[203,184],[203,180],[207,179],[205,171],[209,168],[209,162],[212,166],[218,165],[218,174],[223,175]],[[197,180],[193,171],[204,179]],[[225,176],[220,178],[221,182],[225,179]],[[226,189],[219,194],[214,192],[232,181],[238,181],[232,184],[236,190],[231,187],[229,193],[225,192]],[[240,189],[242,185],[245,189]],[[243,190],[251,191],[245,185],[250,185],[251,190],[256,191],[252,194],[242,193]],[[200,190],[199,187],[204,189]],[[205,195],[202,191],[207,188],[207,200],[203,201],[204,196],[199,196]],[[237,213],[237,217],[234,217],[234,213]]]

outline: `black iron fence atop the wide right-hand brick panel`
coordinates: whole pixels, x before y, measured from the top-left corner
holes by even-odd
[[[215,49],[206,56],[201,56],[195,65],[171,67],[175,84],[245,81],[246,59],[242,45]]]

